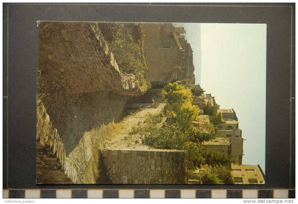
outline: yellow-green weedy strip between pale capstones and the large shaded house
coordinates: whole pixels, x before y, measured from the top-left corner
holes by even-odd
[[[144,25],[140,23],[98,23],[122,73],[134,74],[141,90],[151,87],[144,55]]]

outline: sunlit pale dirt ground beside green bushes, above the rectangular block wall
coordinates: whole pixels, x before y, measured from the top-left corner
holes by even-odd
[[[130,135],[133,127],[145,126],[144,121],[148,118],[148,114],[159,114],[163,111],[165,103],[160,103],[156,108],[150,107],[150,103],[129,104],[125,113],[128,114],[122,120],[123,131],[114,137],[111,141],[106,141],[104,149],[117,150],[150,150],[153,149],[147,145],[143,145],[139,134]],[[140,109],[140,110],[139,110]],[[138,110],[138,111],[137,111]],[[132,113],[132,114],[130,114]]]

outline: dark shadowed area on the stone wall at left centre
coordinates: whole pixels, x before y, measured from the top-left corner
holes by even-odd
[[[38,96],[44,93],[41,101],[58,130],[66,155],[74,150],[85,132],[113,120],[119,122],[127,98],[109,91],[71,95],[46,74],[38,79]]]

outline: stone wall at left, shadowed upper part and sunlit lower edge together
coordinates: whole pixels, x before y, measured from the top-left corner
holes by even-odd
[[[53,148],[73,183],[84,183],[88,158],[83,138],[89,136],[92,149],[98,136],[93,130],[119,122],[127,98],[112,91],[69,94],[46,73],[39,76],[37,141]]]

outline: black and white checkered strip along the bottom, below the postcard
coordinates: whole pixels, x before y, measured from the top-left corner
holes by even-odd
[[[3,189],[3,198],[295,198],[295,189]]]

